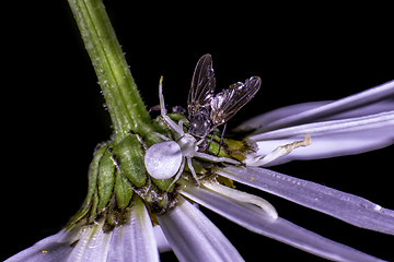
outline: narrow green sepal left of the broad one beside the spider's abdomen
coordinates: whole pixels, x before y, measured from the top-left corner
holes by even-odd
[[[104,209],[111,200],[114,189],[115,180],[115,163],[112,158],[112,154],[106,150],[99,164],[99,212]]]

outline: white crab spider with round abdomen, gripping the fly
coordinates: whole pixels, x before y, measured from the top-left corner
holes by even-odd
[[[178,124],[176,124],[169,116],[166,116],[162,81],[163,78],[160,79],[159,83],[161,117],[164,119],[165,123],[177,133],[177,138],[176,141],[171,141],[166,136],[161,135],[161,138],[166,141],[157,143],[148,148],[147,154],[144,155],[144,165],[149,175],[155,179],[167,179],[175,176],[174,181],[171,183],[172,186],[181,177],[186,160],[193,177],[196,179],[197,183],[199,183],[196,171],[192,165],[193,157],[209,162],[224,162],[234,165],[240,164],[237,160],[228,157],[218,157],[198,152],[198,145],[204,139],[197,141],[192,134],[184,132],[183,123],[187,121],[186,119],[182,119]]]

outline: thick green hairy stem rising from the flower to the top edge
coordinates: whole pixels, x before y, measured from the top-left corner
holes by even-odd
[[[115,129],[115,141],[130,131],[152,130],[151,118],[134,82],[102,0],[68,0],[99,78]]]

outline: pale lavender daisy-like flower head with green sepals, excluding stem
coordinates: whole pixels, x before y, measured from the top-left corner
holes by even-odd
[[[171,179],[161,182],[135,175],[143,168],[138,163],[143,150],[137,134],[104,143],[91,164],[89,193],[81,211],[60,233],[7,261],[158,261],[158,250],[169,249],[181,261],[243,261],[193,203],[325,259],[381,261],[286,221],[265,200],[231,186],[236,181],[351,225],[394,235],[393,210],[257,167],[359,154],[393,144],[393,98],[394,81],[336,102],[300,104],[252,118],[234,130],[246,133],[244,140],[224,140],[225,152],[221,153],[244,165],[194,158],[200,184],[185,170],[175,190],[167,190]],[[213,140],[212,151],[217,147]]]

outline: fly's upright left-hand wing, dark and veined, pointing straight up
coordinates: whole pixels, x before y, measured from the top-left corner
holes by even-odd
[[[212,57],[204,55],[197,62],[187,97],[187,110],[194,116],[200,107],[209,105],[215,91]]]

